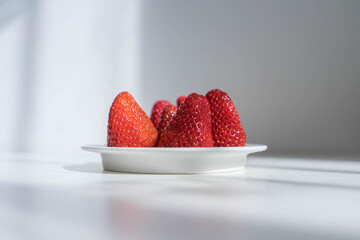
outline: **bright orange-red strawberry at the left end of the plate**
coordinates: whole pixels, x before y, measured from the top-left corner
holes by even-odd
[[[153,147],[158,133],[133,96],[122,92],[111,105],[108,147]]]

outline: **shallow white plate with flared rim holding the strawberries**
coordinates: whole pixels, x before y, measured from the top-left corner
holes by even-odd
[[[105,170],[129,173],[216,173],[245,168],[250,153],[262,152],[265,145],[212,148],[122,148],[85,145],[85,151],[101,154]]]

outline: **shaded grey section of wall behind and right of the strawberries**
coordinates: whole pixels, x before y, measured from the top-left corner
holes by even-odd
[[[146,1],[146,107],[220,88],[249,142],[360,148],[360,1]]]

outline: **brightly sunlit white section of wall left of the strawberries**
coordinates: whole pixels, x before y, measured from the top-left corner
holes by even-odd
[[[31,1],[21,9],[0,28],[0,151],[74,152],[104,143],[116,94],[141,99],[139,1]]]

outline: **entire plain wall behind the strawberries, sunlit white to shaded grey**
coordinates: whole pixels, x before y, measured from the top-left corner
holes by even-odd
[[[0,4],[0,152],[105,143],[123,90],[149,113],[212,88],[270,151],[360,151],[360,1]]]

